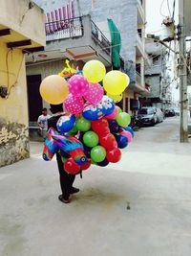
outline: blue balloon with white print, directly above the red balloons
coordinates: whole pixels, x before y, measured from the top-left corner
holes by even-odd
[[[105,111],[106,109],[101,104],[85,105],[82,115],[90,121],[96,121],[105,115]]]

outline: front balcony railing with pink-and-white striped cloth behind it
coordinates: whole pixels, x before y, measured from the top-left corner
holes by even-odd
[[[45,23],[45,30],[47,41],[82,36],[82,18],[76,17]]]

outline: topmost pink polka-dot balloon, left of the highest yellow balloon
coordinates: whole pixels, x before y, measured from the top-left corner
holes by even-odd
[[[69,81],[69,90],[75,97],[81,97],[89,88],[89,82],[81,75],[74,75]]]

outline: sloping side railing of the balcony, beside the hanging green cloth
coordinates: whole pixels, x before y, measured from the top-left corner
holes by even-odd
[[[111,43],[107,39],[105,35],[102,34],[102,32],[98,29],[94,21],[91,21],[92,23],[92,37],[100,45],[102,50],[110,55],[111,52]]]

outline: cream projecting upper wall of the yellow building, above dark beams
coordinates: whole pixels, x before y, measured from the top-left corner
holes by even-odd
[[[29,0],[1,0],[0,24],[35,42],[36,46],[45,45],[45,15],[34,3],[29,9]],[[17,41],[18,36],[14,35]],[[25,37],[23,39],[26,39]]]

